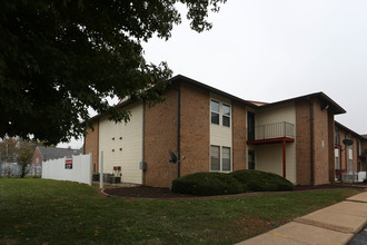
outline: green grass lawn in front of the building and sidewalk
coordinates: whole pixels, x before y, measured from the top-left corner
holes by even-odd
[[[234,244],[357,194],[354,189],[147,200],[96,187],[0,179],[0,244]]]

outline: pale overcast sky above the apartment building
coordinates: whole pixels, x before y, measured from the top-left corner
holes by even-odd
[[[324,91],[347,110],[336,120],[367,134],[366,0],[228,0],[202,33],[182,19],[143,45],[148,61],[246,100]]]

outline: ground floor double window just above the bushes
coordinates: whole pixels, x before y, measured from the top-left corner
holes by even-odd
[[[230,147],[210,146],[210,170],[231,171]]]

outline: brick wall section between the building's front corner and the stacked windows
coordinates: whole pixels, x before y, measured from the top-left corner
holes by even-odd
[[[210,119],[208,90],[181,84],[181,176],[209,170]]]

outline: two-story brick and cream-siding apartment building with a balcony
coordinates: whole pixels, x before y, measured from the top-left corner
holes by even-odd
[[[128,124],[109,121],[107,115],[93,118],[93,130],[86,130],[85,153],[92,153],[95,173],[101,151],[105,173],[120,167],[122,182],[162,187],[169,186],[170,175],[238,169],[320,185],[333,183],[341,166],[336,165],[335,140],[336,130],[341,134],[345,128],[334,116],[346,111],[323,92],[264,104],[179,75],[169,81],[165,96],[166,101],[153,107],[120,104],[131,112]],[[358,140],[361,149],[367,148],[365,138]],[[186,158],[171,170],[169,150]],[[355,153],[353,159],[360,159],[365,169],[366,160],[357,148]],[[353,169],[357,166],[358,161]]]

